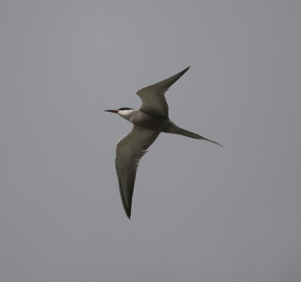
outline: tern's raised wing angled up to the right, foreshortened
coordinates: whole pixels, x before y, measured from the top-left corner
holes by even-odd
[[[142,100],[140,110],[148,114],[163,115],[168,118],[168,105],[165,93],[189,68],[190,66],[170,78],[138,90],[136,94]]]

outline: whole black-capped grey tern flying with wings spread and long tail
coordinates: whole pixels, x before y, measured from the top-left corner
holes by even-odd
[[[105,111],[116,113],[134,124],[132,131],[117,142],[115,157],[121,201],[129,219],[139,161],[161,132],[203,139],[222,146],[215,141],[178,127],[168,117],[165,93],[189,68],[190,66],[170,78],[138,90],[136,94],[142,100],[140,109],[120,108]]]

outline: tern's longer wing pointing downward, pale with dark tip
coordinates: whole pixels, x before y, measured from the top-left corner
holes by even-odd
[[[154,143],[160,131],[134,125],[132,131],[117,142],[115,166],[123,208],[131,216],[132,196],[138,164],[146,149]]]

